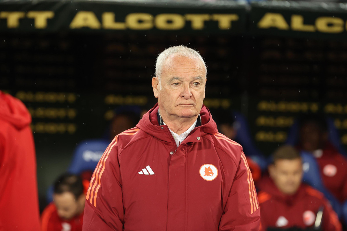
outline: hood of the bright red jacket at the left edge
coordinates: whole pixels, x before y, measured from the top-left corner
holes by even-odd
[[[22,129],[31,123],[31,115],[22,101],[0,91],[0,120]]]

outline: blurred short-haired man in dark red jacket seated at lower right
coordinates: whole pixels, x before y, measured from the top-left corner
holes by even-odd
[[[337,214],[318,190],[302,183],[302,160],[292,146],[274,152],[270,178],[259,192],[261,231],[271,228],[320,228],[341,231]]]

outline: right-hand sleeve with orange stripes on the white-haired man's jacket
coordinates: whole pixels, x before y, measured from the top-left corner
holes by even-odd
[[[260,210],[251,171],[241,153],[234,182],[219,225],[220,231],[258,231]]]

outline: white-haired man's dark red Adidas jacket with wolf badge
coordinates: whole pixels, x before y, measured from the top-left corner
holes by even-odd
[[[87,192],[83,230],[259,230],[242,147],[217,133],[203,106],[202,125],[177,148],[157,113],[155,105],[104,152]]]

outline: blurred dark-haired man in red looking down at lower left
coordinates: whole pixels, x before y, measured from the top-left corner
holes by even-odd
[[[60,176],[54,184],[53,201],[42,213],[41,231],[82,231],[85,190],[81,177]]]

